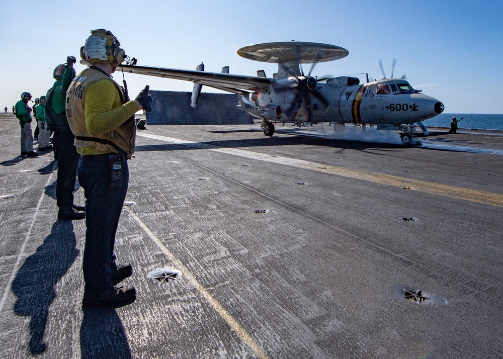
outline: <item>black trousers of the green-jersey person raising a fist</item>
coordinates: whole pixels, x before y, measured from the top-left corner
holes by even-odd
[[[54,158],[58,161],[56,182],[56,203],[59,208],[73,205],[73,189],[77,178],[77,165],[80,155],[73,145],[75,136],[72,133],[54,131],[52,145]]]

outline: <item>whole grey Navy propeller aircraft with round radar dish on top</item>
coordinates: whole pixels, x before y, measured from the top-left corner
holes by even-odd
[[[257,71],[257,76],[229,74],[228,67],[221,73],[205,72],[202,63],[195,71],[136,64],[123,65],[123,70],[194,82],[194,108],[203,85],[237,94],[237,107],[262,119],[261,129],[266,136],[273,135],[275,122],[299,126],[333,123],[336,131],[344,130],[346,124],[377,125],[377,129],[401,130],[402,142],[407,144],[414,123],[428,134],[422,121],[444,111],[440,101],[421,94],[403,77],[369,81],[367,75],[367,82],[360,84],[358,77],[312,76],[316,63],[348,56],[349,51],[339,46],[274,42],[245,46],[237,53],[251,60],[278,63],[278,72],[272,78],[266,77],[264,70]],[[309,72],[304,73],[303,63],[312,64]]]

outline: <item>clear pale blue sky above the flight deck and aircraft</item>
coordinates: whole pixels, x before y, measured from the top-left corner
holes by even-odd
[[[503,114],[503,2],[500,0],[358,1],[150,0],[63,2],[45,0],[0,5],[0,108],[29,92],[33,100],[52,86],[52,72],[68,55],[77,58],[90,31],[112,31],[139,65],[272,77],[277,65],[247,60],[236,51],[250,44],[319,42],[349,51],[344,59],[319,63],[312,75],[394,77],[406,74],[415,89],[445,105],[446,113]],[[310,65],[304,65],[307,71]],[[117,71],[114,79],[122,84]],[[192,83],[126,74],[131,98],[146,85],[162,91],[192,91]],[[365,79],[365,74],[359,76]],[[203,87],[205,92],[218,92]]]

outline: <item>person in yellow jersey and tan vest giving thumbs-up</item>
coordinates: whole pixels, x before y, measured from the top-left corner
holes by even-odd
[[[129,184],[127,159],[134,152],[134,114],[150,111],[148,86],[134,101],[111,78],[126,58],[117,38],[104,29],[91,32],[80,57],[88,68],[66,93],[66,117],[80,154],[77,177],[86,198],[83,307],[122,306],[136,299],[133,286],[114,287],[132,273],[116,263],[114,243]]]

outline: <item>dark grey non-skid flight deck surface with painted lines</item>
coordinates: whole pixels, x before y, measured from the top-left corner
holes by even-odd
[[[138,299],[82,310],[85,222],[0,123],[0,357],[503,356],[503,133],[147,125],[115,247]]]

